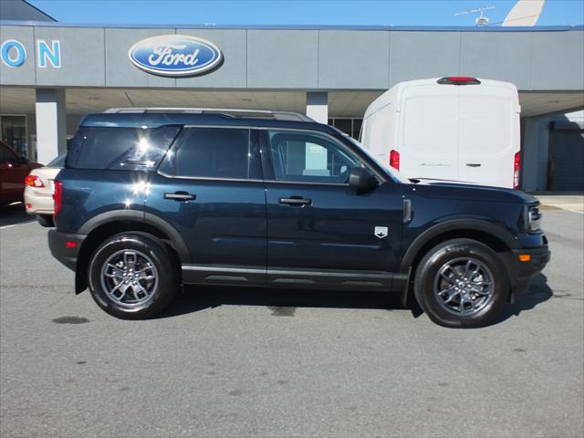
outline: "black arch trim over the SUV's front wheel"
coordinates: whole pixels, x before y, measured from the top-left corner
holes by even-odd
[[[418,235],[412,245],[410,245],[401,259],[401,266],[399,272],[408,272],[416,255],[420,252],[422,247],[430,242],[434,237],[443,235],[454,230],[465,231],[479,231],[492,235],[494,238],[501,240],[510,249],[519,248],[520,245],[516,237],[511,235],[503,226],[486,222],[481,219],[452,219],[441,224],[435,224]]]

